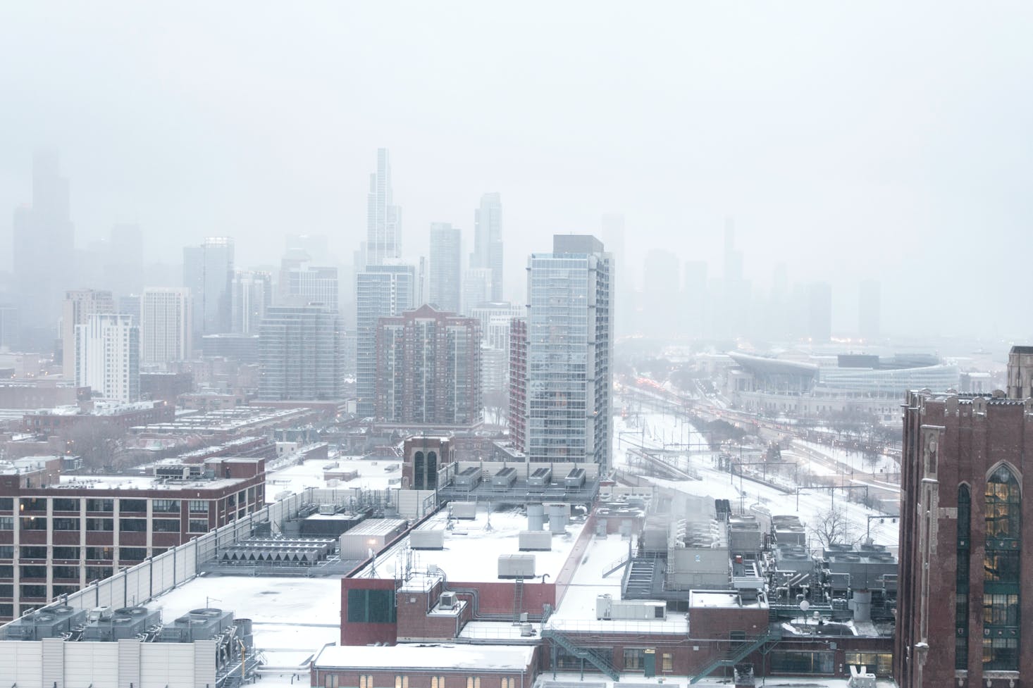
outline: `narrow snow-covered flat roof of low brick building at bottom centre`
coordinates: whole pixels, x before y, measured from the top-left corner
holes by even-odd
[[[332,646],[316,657],[319,668],[494,669],[520,671],[534,656],[533,646],[396,645],[356,648]]]

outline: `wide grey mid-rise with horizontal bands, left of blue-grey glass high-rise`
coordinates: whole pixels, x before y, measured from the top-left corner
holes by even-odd
[[[258,335],[263,400],[344,397],[344,326],[322,306],[272,306]]]

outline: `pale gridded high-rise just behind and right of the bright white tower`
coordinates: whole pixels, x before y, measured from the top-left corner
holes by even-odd
[[[145,366],[187,361],[192,353],[190,289],[149,287],[139,304],[140,359]]]

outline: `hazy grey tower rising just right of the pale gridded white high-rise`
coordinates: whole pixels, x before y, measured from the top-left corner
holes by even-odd
[[[193,296],[193,336],[230,331],[233,240],[210,237],[183,249],[183,286]]]

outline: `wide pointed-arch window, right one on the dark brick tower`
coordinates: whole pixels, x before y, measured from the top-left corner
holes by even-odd
[[[1011,469],[1001,465],[994,470],[987,479],[984,497],[982,667],[1018,670],[1022,493]]]

